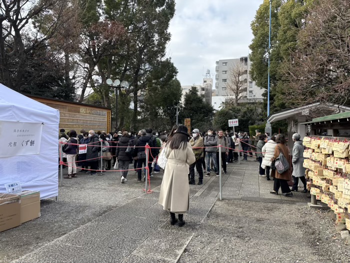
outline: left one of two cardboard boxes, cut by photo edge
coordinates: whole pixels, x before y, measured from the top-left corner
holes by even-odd
[[[20,225],[20,196],[0,193],[0,232]]]

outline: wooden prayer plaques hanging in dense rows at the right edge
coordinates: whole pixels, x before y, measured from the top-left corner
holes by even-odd
[[[305,137],[303,145],[307,188],[350,230],[350,142]]]

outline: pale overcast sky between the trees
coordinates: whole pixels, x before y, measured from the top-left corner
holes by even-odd
[[[178,70],[181,85],[201,84],[207,69],[215,74],[217,60],[248,55],[250,23],[262,2],[176,0],[167,52]],[[214,75],[212,78],[215,82]]]

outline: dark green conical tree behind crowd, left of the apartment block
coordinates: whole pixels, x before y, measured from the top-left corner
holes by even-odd
[[[214,109],[211,105],[205,103],[198,95],[198,89],[191,87],[184,96],[183,110],[180,111],[180,121],[183,123],[184,118],[191,119],[191,128],[206,131],[211,127]]]

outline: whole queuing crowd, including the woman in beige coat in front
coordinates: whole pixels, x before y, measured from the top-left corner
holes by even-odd
[[[166,131],[153,132],[151,128],[142,129],[137,134],[127,131],[95,133],[93,130],[88,132],[80,130],[80,134],[77,134],[71,130],[66,135],[63,129],[60,132],[59,142],[62,144],[60,157],[63,164],[68,166],[68,174],[64,177],[67,179],[77,177],[77,166],[81,167],[79,172],[89,172],[93,175],[97,174],[97,171],[110,170],[114,165],[114,168],[120,172],[120,182],[125,183],[130,171],[129,164],[133,162],[131,170],[137,173],[137,182],[142,182],[142,170],[144,171],[143,181],[146,170],[149,176],[153,177],[152,172],[153,167],[156,167],[157,157],[161,151],[164,151],[167,163],[164,167],[159,203],[164,210],[170,212],[172,225],[176,222],[179,226],[184,225],[183,213],[188,210],[189,184],[195,184],[195,170],[198,175],[197,184],[200,185],[203,183],[204,173],[205,176],[210,176],[213,171],[216,176],[219,176],[219,169],[222,169],[225,174],[226,164],[237,161],[239,156],[242,156],[242,161],[246,161],[248,156],[256,158],[259,162],[259,176],[266,177],[267,180],[270,180],[270,176],[273,177],[271,194],[278,194],[280,188],[283,195],[291,196],[291,191],[297,191],[299,178],[304,184],[304,192],[307,192],[305,170],[302,167],[303,146],[299,134],[293,135],[294,185],[289,189],[287,184],[289,171],[280,172],[275,167],[275,161],[281,155],[285,158],[289,155],[285,145],[286,140],[282,134],[274,134],[270,137],[269,134],[261,134],[256,130],[251,140],[246,132],[233,134],[209,128],[202,133],[198,129],[193,129],[189,134],[185,126],[177,125],[172,127],[169,134]],[[78,154],[78,144],[87,144],[86,153]],[[148,163],[146,145],[150,147]],[[100,165],[101,158],[102,165]],[[222,163],[221,167],[218,167],[220,158]],[[175,213],[178,214],[178,219]]]

